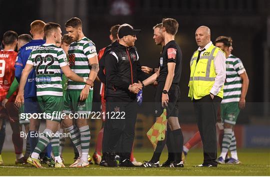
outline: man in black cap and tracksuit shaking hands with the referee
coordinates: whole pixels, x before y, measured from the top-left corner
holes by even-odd
[[[130,162],[135,122],[137,116],[136,94],[143,84],[138,83],[147,78],[141,71],[139,56],[134,47],[139,29],[133,29],[129,24],[118,28],[118,42],[104,54],[106,69],[106,121],[104,138],[107,146],[102,150],[105,154],[105,167],[117,167],[115,147],[121,138],[119,167],[135,167]],[[120,119],[124,118],[124,119]]]

